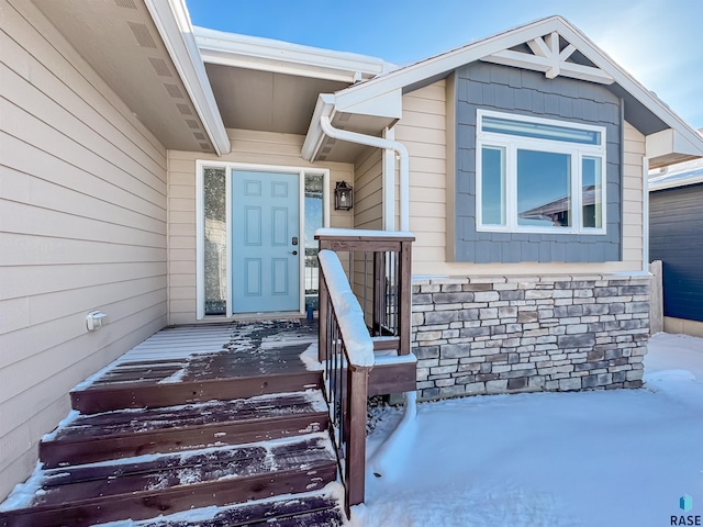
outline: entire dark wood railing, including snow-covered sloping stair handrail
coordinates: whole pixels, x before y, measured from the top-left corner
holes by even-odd
[[[325,365],[348,516],[350,506],[364,502],[366,404],[375,350],[410,354],[410,266],[415,238],[409,233],[322,228],[315,239],[320,242],[319,358]],[[346,270],[339,254],[348,257]],[[414,389],[415,366],[409,365],[410,388],[408,382],[399,384],[393,371],[390,384],[383,385]]]

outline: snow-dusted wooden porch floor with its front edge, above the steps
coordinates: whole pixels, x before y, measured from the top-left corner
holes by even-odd
[[[163,329],[71,392],[85,414],[193,404],[321,385],[300,358],[317,341],[308,321]]]

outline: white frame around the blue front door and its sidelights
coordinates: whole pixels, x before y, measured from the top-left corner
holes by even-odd
[[[225,170],[225,200],[226,200],[226,239],[227,239],[227,293],[226,293],[226,317],[233,316],[232,311],[232,172],[237,170],[298,173],[299,197],[300,197],[300,235],[298,249],[300,268],[300,300],[299,312],[305,310],[305,176],[317,175],[323,177],[322,197],[322,224],[330,226],[330,169],[326,168],[302,168],[280,165],[256,165],[246,162],[208,161],[198,159],[196,161],[196,317],[202,319],[222,318],[222,315],[205,315],[205,200],[204,179],[205,168],[223,168]]]

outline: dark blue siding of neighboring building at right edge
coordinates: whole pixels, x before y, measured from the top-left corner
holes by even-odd
[[[703,184],[649,194],[649,257],[663,262],[663,314],[703,322]]]

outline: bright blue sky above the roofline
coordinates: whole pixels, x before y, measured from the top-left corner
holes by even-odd
[[[703,0],[187,0],[194,25],[408,64],[561,14],[696,128]]]

